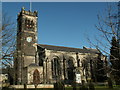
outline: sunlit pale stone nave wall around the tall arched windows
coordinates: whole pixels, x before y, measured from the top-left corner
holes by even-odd
[[[68,78],[68,74],[66,73],[66,75],[64,75],[64,68],[63,68],[63,60],[65,59],[65,62],[67,62],[67,60],[72,59],[73,61],[73,65],[74,68],[77,68],[81,74],[81,80],[86,80],[85,77],[85,69],[83,68],[83,61],[88,61],[87,63],[90,63],[90,59],[95,60],[98,57],[98,54],[95,53],[76,53],[76,52],[66,52],[66,51],[54,51],[54,50],[45,50],[45,61],[44,61],[44,78],[46,79],[46,82],[48,83],[53,83],[53,76],[52,76],[52,60],[54,58],[59,58],[60,61],[60,65],[61,65],[61,80],[64,80],[65,78]],[[78,61],[79,62],[79,67],[78,67]],[[67,68],[67,63],[65,64],[65,67]],[[90,66],[89,66],[90,67]],[[66,71],[67,72],[67,69]],[[90,68],[89,68],[89,78],[91,77],[90,75]]]

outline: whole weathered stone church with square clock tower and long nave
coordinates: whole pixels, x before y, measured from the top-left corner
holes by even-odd
[[[21,9],[17,23],[14,60],[15,84],[45,84],[95,79],[95,63],[105,57],[97,49],[71,48],[37,43],[38,12]]]

